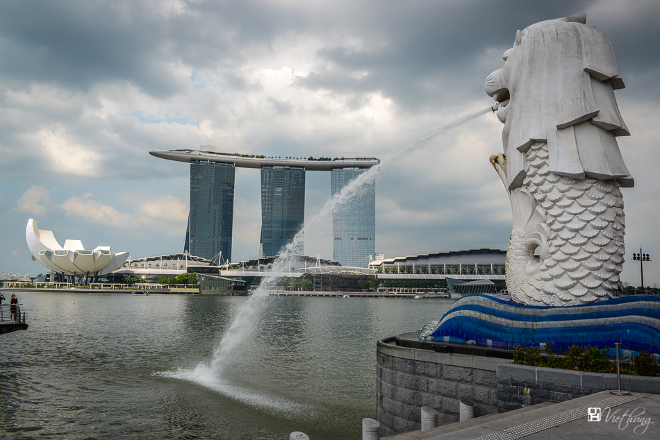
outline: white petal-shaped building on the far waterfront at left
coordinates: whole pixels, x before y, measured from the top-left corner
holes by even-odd
[[[28,220],[25,239],[32,260],[54,272],[68,275],[105,275],[119,269],[129,257],[128,252],[114,253],[110,246],[97,246],[86,251],[80,240],[68,239],[60,246],[53,231],[37,228],[37,221]]]

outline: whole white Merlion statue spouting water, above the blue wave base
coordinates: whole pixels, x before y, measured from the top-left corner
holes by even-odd
[[[634,186],[616,142],[629,135],[614,97],[625,85],[609,40],[585,22],[518,31],[486,79],[504,123],[504,154],[490,162],[511,198],[506,287],[517,303],[593,303],[619,284],[620,187]]]

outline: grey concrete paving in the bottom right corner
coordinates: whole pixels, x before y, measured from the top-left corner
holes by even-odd
[[[600,421],[589,421],[589,408]],[[599,412],[592,410],[592,418]],[[613,396],[609,391],[562,403],[543,403],[383,440],[613,440],[660,439],[660,394]]]

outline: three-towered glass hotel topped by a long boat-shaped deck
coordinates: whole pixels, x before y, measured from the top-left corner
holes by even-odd
[[[190,214],[184,251],[231,262],[236,168],[261,169],[261,239],[258,257],[274,257],[304,225],[305,173],[330,171],[331,195],[378,164],[376,158],[266,158],[199,150],[155,150],[156,158],[190,163]],[[351,201],[333,208],[333,258],[343,266],[367,266],[376,251],[376,186],[365,184]],[[302,246],[302,245],[301,245]],[[296,249],[295,253],[304,253]]]

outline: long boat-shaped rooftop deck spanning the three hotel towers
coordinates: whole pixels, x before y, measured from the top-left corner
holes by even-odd
[[[307,159],[282,159],[282,158],[254,158],[246,155],[231,153],[215,153],[215,151],[199,150],[154,150],[149,154],[156,158],[176,160],[177,162],[194,162],[196,160],[208,160],[209,162],[223,162],[234,164],[238,168],[263,168],[263,167],[297,167],[307,171],[331,171],[341,168],[371,168],[380,163],[377,158],[340,158],[338,160],[307,160]]]

